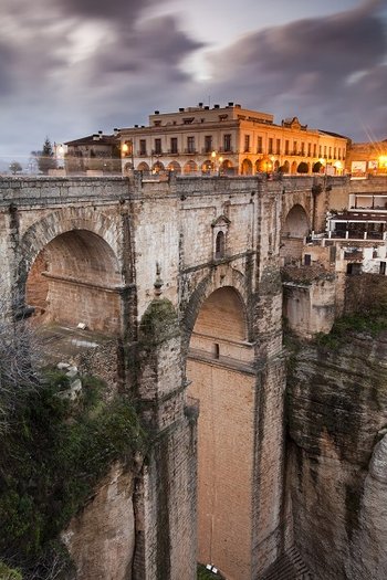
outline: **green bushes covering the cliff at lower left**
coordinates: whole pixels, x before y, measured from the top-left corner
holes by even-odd
[[[20,568],[23,580],[59,578],[67,558],[60,532],[109,465],[130,464],[144,449],[129,401],[105,402],[102,382],[90,377],[82,378],[75,401],[65,396],[67,389],[64,372],[46,371],[34,389],[18,391],[7,413],[0,442],[0,558]]]

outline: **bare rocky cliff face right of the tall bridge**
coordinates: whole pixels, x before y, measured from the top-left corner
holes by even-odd
[[[287,387],[294,541],[321,580],[387,578],[387,333],[304,345]]]

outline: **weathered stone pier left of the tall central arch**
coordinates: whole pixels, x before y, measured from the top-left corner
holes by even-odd
[[[180,333],[157,297],[139,326],[138,399],[150,433],[135,495],[134,580],[196,579],[196,414],[185,412]]]

